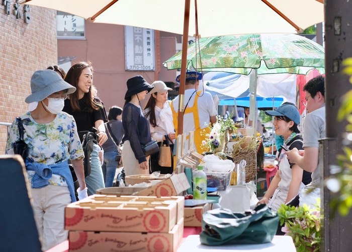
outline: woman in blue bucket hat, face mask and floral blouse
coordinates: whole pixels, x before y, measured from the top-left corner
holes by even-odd
[[[28,145],[25,163],[34,217],[42,236],[43,250],[47,250],[67,239],[64,209],[76,201],[68,159],[71,159],[80,185],[79,199],[87,196],[84,156],[73,117],[61,111],[67,94],[76,89],[54,71],[40,70],[31,78],[31,90],[32,94],[26,98],[30,111],[12,123],[6,153],[14,154],[14,143],[20,139],[18,124],[22,121],[23,138]]]

